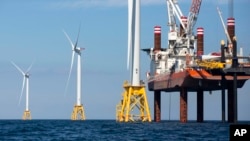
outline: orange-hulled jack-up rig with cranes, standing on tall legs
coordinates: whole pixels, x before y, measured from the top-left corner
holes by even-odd
[[[154,121],[161,121],[161,91],[180,92],[180,121],[187,122],[188,92],[197,92],[197,122],[203,122],[204,91],[222,90],[222,121],[225,121],[225,90],[228,92],[228,122],[237,122],[237,88],[250,79],[250,58],[237,56],[234,18],[228,18],[228,44],[221,52],[204,55],[204,29],[193,28],[202,0],[192,0],[185,17],[178,0],[167,0],[168,48],[161,47],[161,27],[154,29],[154,48],[143,49],[150,56],[147,85],[154,91]],[[178,29],[179,25],[179,29]],[[226,32],[226,33],[227,33]],[[240,58],[240,59],[239,59]]]

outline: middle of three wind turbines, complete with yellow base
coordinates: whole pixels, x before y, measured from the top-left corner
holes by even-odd
[[[73,67],[73,63],[74,63],[74,56],[75,56],[75,53],[77,54],[77,84],[76,84],[77,95],[76,95],[76,104],[73,108],[71,119],[72,120],[85,120],[84,108],[83,108],[83,105],[81,104],[81,51],[84,50],[84,48],[77,46],[78,37],[80,34],[80,27],[79,27],[79,31],[78,31],[78,35],[77,35],[77,39],[76,39],[75,44],[73,44],[73,42],[69,38],[68,34],[65,31],[63,31],[63,32],[64,32],[65,36],[67,37],[67,39],[69,40],[69,42],[71,44],[71,48],[72,48],[70,72],[69,72],[69,77],[68,77],[66,89],[68,87],[69,79],[70,79],[71,72],[72,72],[72,67]]]

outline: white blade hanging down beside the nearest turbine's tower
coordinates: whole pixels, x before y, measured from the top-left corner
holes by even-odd
[[[133,0],[128,0],[128,52],[127,52],[127,69],[130,66],[131,40],[132,40],[132,18],[133,18]]]

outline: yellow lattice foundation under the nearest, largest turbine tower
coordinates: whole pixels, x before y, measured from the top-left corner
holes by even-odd
[[[123,99],[116,107],[116,121],[151,122],[145,85],[131,86],[127,81],[125,81],[123,84],[123,88]]]

